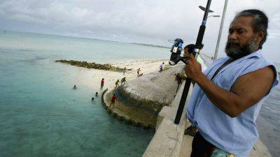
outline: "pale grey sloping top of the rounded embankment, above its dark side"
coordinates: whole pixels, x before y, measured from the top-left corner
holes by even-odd
[[[170,104],[176,92],[175,74],[181,73],[183,64],[164,70],[162,73],[149,73],[127,83],[125,91],[139,100],[153,100]]]

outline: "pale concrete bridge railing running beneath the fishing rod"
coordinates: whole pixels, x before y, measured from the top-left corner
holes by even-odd
[[[172,105],[163,107],[158,114],[155,135],[148,145],[143,157],[179,157],[185,128],[190,126],[190,123],[185,118],[185,112],[183,112],[180,124],[174,124],[184,84],[185,82],[181,84]],[[190,97],[192,90],[193,86],[190,86],[188,98]],[[188,102],[188,98],[186,103]]]

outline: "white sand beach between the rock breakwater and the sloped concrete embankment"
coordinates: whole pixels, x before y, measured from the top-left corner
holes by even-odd
[[[165,63],[165,66],[169,66],[168,59],[165,60],[144,60],[144,61],[124,61],[112,63],[112,66],[117,66],[120,68],[127,68],[132,70],[127,70],[125,75],[119,72],[113,72],[109,70],[97,70],[97,69],[87,69],[80,68],[78,72],[77,80],[80,84],[83,84],[92,89],[99,89],[102,78],[104,78],[105,83],[103,90],[113,89],[116,85],[117,80],[121,80],[123,77],[126,78],[127,82],[137,78],[137,69],[140,68],[140,73],[144,75],[160,70],[160,64]],[[119,82],[120,85],[120,82]],[[100,91],[99,91],[100,92]]]

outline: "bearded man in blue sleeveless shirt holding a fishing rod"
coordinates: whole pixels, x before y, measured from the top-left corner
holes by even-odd
[[[202,73],[193,54],[185,54],[185,71],[195,82],[187,117],[198,128],[193,157],[248,156],[258,140],[255,119],[262,103],[279,82],[272,62],[262,57],[267,16],[244,10],[230,24],[225,52]],[[218,155],[217,155],[218,154]]]

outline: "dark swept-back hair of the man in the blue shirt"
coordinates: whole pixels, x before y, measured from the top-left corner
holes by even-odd
[[[255,33],[261,30],[265,32],[265,36],[263,36],[259,45],[259,49],[262,49],[262,44],[265,43],[265,40],[267,40],[267,26],[268,26],[267,15],[265,15],[265,13],[263,13],[261,10],[249,9],[249,10],[241,11],[235,16],[235,18],[242,17],[242,16],[253,17],[252,27]]]

